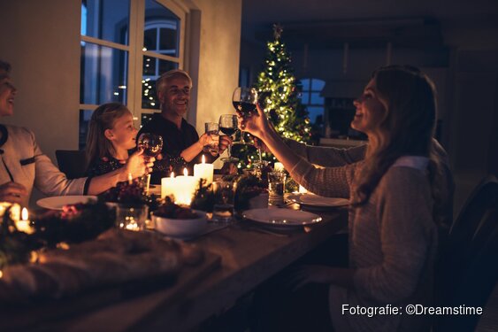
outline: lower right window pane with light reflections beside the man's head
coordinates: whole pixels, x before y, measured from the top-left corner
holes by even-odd
[[[154,71],[151,68],[154,68]],[[176,68],[178,68],[176,62],[143,57],[142,108],[159,109],[156,95],[156,81],[162,73]]]

